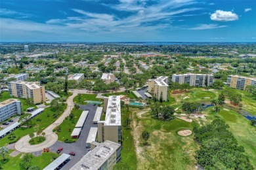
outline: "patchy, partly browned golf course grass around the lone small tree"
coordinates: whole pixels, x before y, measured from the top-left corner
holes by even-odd
[[[136,112],[139,111],[133,114]],[[139,137],[144,130],[150,132],[148,146],[139,139],[141,158],[138,159],[138,169],[196,169],[194,154],[198,145],[194,143],[194,135],[181,137],[177,134],[179,129],[192,129],[192,123],[178,119],[156,120],[149,112],[136,116],[136,122],[134,133]]]

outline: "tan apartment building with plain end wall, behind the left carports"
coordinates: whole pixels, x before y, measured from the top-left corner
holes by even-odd
[[[8,86],[11,97],[32,98],[34,104],[46,101],[45,86],[40,86],[39,82],[14,81],[8,82]]]

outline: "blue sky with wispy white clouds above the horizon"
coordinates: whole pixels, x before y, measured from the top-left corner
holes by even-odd
[[[255,42],[255,0],[1,0],[0,41]]]

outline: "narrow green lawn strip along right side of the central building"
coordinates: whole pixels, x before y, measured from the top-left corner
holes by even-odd
[[[130,118],[131,111],[122,108],[121,109],[121,123],[122,125],[125,122],[126,118]],[[127,163],[130,169],[137,169],[137,156],[135,152],[135,144],[131,129],[125,129],[122,126],[122,137],[123,137],[123,146],[121,150],[121,161]]]

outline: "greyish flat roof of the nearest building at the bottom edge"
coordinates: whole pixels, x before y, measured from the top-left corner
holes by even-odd
[[[80,161],[70,168],[71,170],[96,170],[108,160],[108,158],[121,146],[121,144],[111,141],[105,141],[104,143],[98,143],[97,146],[88,152]]]

